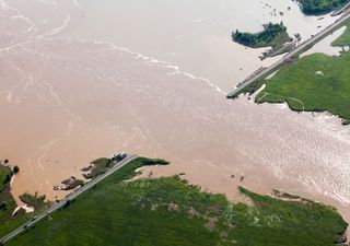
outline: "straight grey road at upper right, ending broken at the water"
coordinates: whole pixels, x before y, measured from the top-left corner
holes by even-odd
[[[234,98],[235,96],[237,96],[246,86],[253,84],[257,79],[269,74],[273,69],[276,69],[276,67],[282,65],[285,60],[292,58],[294,55],[296,55],[298,52],[300,52],[302,49],[304,49],[306,46],[312,45],[314,43],[319,42],[320,39],[323,39],[323,36],[325,34],[327,34],[328,32],[330,32],[332,28],[340,26],[341,24],[343,24],[350,17],[350,11],[347,11],[338,21],[336,21],[334,24],[329,25],[327,28],[325,28],[324,31],[322,31],[320,33],[316,34],[315,36],[313,36],[312,38],[310,38],[308,40],[304,42],[303,44],[299,45],[295,49],[293,49],[291,52],[289,52],[288,55],[285,55],[282,59],[278,60],[276,63],[273,63],[272,66],[264,69],[261,72],[253,75],[250,79],[248,79],[247,81],[243,82],[241,85],[238,85],[238,87],[233,89],[229,94],[228,94],[228,98]]]

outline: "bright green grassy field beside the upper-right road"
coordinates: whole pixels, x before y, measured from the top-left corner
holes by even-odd
[[[350,44],[348,30],[332,45]],[[350,52],[307,56],[281,69],[256,96],[257,103],[284,103],[296,112],[329,112],[350,121]]]

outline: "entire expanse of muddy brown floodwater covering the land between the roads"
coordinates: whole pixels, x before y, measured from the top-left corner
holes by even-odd
[[[225,98],[278,59],[261,62],[232,30],[283,21],[306,38],[335,21],[318,19],[289,0],[0,0],[0,159],[21,168],[13,194],[60,197],[54,185],[126,151],[172,162],[154,176],[185,173],[230,199],[237,185],[279,188],[350,219],[349,128]]]

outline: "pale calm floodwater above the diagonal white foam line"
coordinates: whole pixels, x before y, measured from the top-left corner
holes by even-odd
[[[308,38],[335,17],[306,17],[290,0],[79,1],[81,17],[60,36],[113,42],[119,47],[170,62],[226,92],[261,66],[265,49],[231,42],[235,30],[259,32],[283,22],[290,36]],[[103,14],[102,14],[103,13]]]

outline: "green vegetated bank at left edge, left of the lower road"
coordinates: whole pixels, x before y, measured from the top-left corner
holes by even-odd
[[[24,210],[19,210],[15,214],[12,214],[16,208],[15,200],[10,192],[10,181],[13,175],[13,171],[0,162],[0,237],[20,226],[27,220],[31,220],[33,214],[26,214]],[[23,195],[23,198],[27,201],[36,201],[38,197],[31,196],[28,194]],[[44,200],[35,202],[36,212],[46,208]]]

